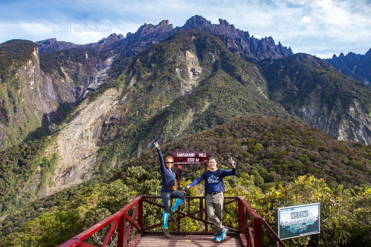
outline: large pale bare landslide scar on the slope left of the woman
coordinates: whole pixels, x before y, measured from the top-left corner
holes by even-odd
[[[41,197],[91,178],[95,171],[98,143],[106,122],[119,103],[117,97],[118,91],[109,89],[96,101],[90,104],[85,101],[75,109],[75,115],[56,134],[55,144],[50,147],[61,158]]]

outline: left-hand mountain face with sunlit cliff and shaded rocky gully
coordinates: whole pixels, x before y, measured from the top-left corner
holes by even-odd
[[[114,55],[91,47],[38,53],[35,43],[0,44],[0,149],[53,132],[106,82]]]

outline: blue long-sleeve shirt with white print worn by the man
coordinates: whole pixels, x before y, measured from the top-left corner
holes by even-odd
[[[221,169],[221,176],[227,177],[227,176],[232,176],[236,175],[236,168],[232,168],[231,171]],[[191,184],[188,186],[192,188],[194,185],[198,184],[202,180],[205,179],[205,172],[201,174],[200,177],[196,178]],[[221,177],[219,176],[218,169],[215,171],[207,171],[206,172],[206,179],[207,179],[207,187],[206,187],[206,193],[211,193],[211,192],[218,192],[218,191],[223,191],[223,187],[221,186]]]

